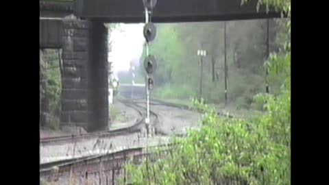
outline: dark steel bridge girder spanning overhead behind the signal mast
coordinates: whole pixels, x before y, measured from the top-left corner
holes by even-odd
[[[258,0],[166,0],[158,1],[152,22],[232,21],[255,18],[279,18],[280,13],[265,8],[256,11]],[[77,0],[74,14],[97,18],[108,23],[141,23],[145,21],[142,0]]]

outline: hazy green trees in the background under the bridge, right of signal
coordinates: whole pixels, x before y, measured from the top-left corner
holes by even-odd
[[[271,24],[273,28],[270,29],[278,29],[277,24]],[[266,21],[227,23],[228,101],[234,103],[237,109],[254,108],[254,95],[265,91],[265,36]],[[271,47],[276,48],[276,45],[272,43]],[[158,60],[158,69],[154,73],[154,97],[189,99],[198,96],[200,58],[196,51],[200,47],[208,53],[203,62],[202,97],[213,103],[225,101],[223,23],[218,22],[158,26],[156,40],[149,50]],[[212,82],[212,58],[215,60],[215,73],[219,75],[215,82]],[[145,75],[144,70],[140,71]],[[280,92],[281,79],[278,75],[269,81],[271,93]]]

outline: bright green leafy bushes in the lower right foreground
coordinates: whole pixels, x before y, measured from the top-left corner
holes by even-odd
[[[290,184],[290,94],[266,101],[267,114],[253,120],[209,110],[202,130],[188,132],[167,156],[130,164],[132,184]]]

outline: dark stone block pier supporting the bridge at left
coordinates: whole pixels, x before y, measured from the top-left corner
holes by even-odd
[[[108,127],[108,29],[100,21],[63,20],[61,125]]]

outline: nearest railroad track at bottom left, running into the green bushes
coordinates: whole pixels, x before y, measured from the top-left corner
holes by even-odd
[[[51,184],[116,184],[118,177],[127,177],[123,168],[127,162],[140,164],[148,158],[154,161],[173,150],[173,144],[154,147],[136,147],[114,153],[80,158],[60,164],[40,166],[40,180]],[[158,149],[158,150],[154,150]],[[129,178],[126,179],[129,182]]]

